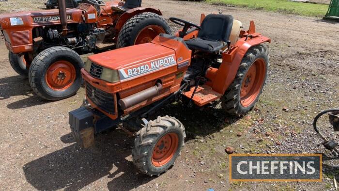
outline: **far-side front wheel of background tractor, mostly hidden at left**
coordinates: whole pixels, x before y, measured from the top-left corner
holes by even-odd
[[[16,73],[24,77],[28,76],[29,67],[27,66],[24,54],[19,56],[18,54],[9,51],[8,60]]]

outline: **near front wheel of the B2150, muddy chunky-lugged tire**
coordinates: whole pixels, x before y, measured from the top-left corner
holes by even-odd
[[[183,124],[174,117],[160,117],[138,131],[132,149],[133,163],[145,175],[166,172],[185,145]]]

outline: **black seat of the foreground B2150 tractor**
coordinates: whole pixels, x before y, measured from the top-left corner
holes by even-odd
[[[210,14],[201,23],[197,38],[186,40],[190,49],[215,52],[227,46],[233,26],[233,16]]]

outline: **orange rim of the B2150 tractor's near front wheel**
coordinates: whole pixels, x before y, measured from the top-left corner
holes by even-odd
[[[162,136],[155,144],[152,153],[152,164],[156,167],[167,164],[178,149],[179,137],[176,133]]]

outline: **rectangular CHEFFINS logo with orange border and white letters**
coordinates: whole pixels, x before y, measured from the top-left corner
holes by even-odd
[[[321,154],[232,154],[231,181],[322,181]]]

